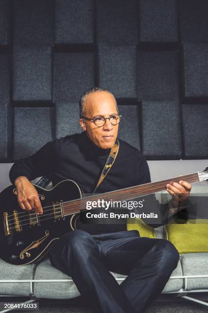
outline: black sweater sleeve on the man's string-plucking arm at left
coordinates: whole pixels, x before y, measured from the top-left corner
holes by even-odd
[[[58,157],[59,140],[50,141],[28,158],[15,161],[12,165],[9,178],[12,184],[19,176],[26,176],[29,181],[36,177],[50,178]]]

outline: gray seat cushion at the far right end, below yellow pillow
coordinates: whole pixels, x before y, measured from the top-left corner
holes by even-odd
[[[208,275],[208,253],[182,254],[181,266],[183,275]],[[194,289],[208,289],[208,277],[188,278],[187,290]]]

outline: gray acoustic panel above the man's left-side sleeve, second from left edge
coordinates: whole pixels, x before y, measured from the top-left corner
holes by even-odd
[[[53,108],[16,107],[14,109],[14,160],[29,157],[53,140]]]

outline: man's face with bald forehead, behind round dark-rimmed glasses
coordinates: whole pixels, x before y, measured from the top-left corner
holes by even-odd
[[[85,101],[85,117],[93,119],[95,117],[110,117],[118,114],[116,103],[111,94],[108,92],[94,92],[87,96]],[[106,120],[105,125],[98,127],[93,121],[80,119],[82,129],[87,131],[90,140],[99,148],[112,148],[117,135],[118,125],[112,125]]]

